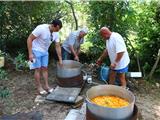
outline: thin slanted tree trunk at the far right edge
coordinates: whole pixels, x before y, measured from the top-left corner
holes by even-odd
[[[149,79],[149,80],[152,79],[153,73],[154,73],[155,69],[157,68],[159,59],[160,59],[160,49],[159,49],[159,51],[158,51],[157,60],[156,60],[156,62],[154,63],[154,66],[152,67],[152,70],[151,70],[151,72],[149,73],[147,79]]]

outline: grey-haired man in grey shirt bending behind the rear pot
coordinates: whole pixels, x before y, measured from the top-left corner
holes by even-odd
[[[84,36],[87,34],[87,28],[71,32],[68,38],[62,44],[62,59],[79,61],[81,44],[84,43]]]

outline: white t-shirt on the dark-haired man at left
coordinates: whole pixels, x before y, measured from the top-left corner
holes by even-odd
[[[32,31],[32,34],[37,37],[32,42],[32,50],[47,52],[50,44],[53,41],[59,42],[59,33],[58,32],[51,33],[48,24],[38,25]]]

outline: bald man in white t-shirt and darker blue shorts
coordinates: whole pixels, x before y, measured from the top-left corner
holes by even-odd
[[[125,73],[128,72],[130,59],[125,42],[119,33],[111,32],[107,27],[102,27],[100,34],[106,41],[106,49],[98,58],[97,64],[100,65],[104,57],[109,56],[111,62],[109,84],[115,83],[115,77],[118,74],[121,86],[126,87]]]

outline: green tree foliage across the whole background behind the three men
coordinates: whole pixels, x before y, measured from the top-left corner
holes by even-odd
[[[74,6],[77,23],[80,26],[87,24],[89,28],[87,36],[93,46],[85,53],[85,61],[95,60],[101,54],[105,43],[99,36],[99,30],[107,26],[123,36],[133,68],[137,64],[135,54],[138,54],[141,67],[151,70],[160,48],[158,0],[70,2]],[[26,39],[31,31],[38,24],[49,23],[54,18],[61,18],[65,25],[65,31],[61,34],[68,35],[68,29],[76,27],[72,10],[65,1],[1,1],[0,49],[14,55],[19,51],[27,52]],[[157,71],[160,72],[160,69]]]

